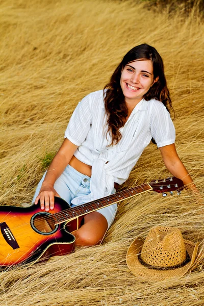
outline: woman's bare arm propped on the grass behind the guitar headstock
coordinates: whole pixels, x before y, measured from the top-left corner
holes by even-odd
[[[185,187],[192,191],[198,192],[190,174],[186,170],[184,164],[177,155],[175,144],[169,144],[159,147],[164,164],[171,174],[178,179],[181,179]]]

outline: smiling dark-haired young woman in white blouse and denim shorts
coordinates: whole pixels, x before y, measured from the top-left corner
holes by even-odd
[[[74,110],[65,140],[37,187],[35,204],[40,200],[41,209],[49,211],[54,196],[74,206],[114,193],[152,138],[169,172],[193,186],[176,153],[168,107],[161,56],[148,44],[134,47],[104,90],[90,93]],[[116,211],[114,204],[86,215],[73,233],[76,244],[100,243]]]

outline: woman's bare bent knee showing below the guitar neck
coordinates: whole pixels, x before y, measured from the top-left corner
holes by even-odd
[[[84,224],[72,234],[76,237],[76,245],[91,246],[101,243],[107,228],[106,218],[98,212],[92,212],[84,217]]]

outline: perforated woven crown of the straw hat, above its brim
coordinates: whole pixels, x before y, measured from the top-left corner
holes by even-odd
[[[179,228],[152,228],[142,247],[141,259],[155,267],[172,267],[186,259],[186,247]]]

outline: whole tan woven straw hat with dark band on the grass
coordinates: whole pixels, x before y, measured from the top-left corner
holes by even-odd
[[[145,241],[137,238],[127,250],[126,263],[141,281],[162,281],[184,275],[193,265],[198,242],[185,240],[179,228],[157,226]]]

